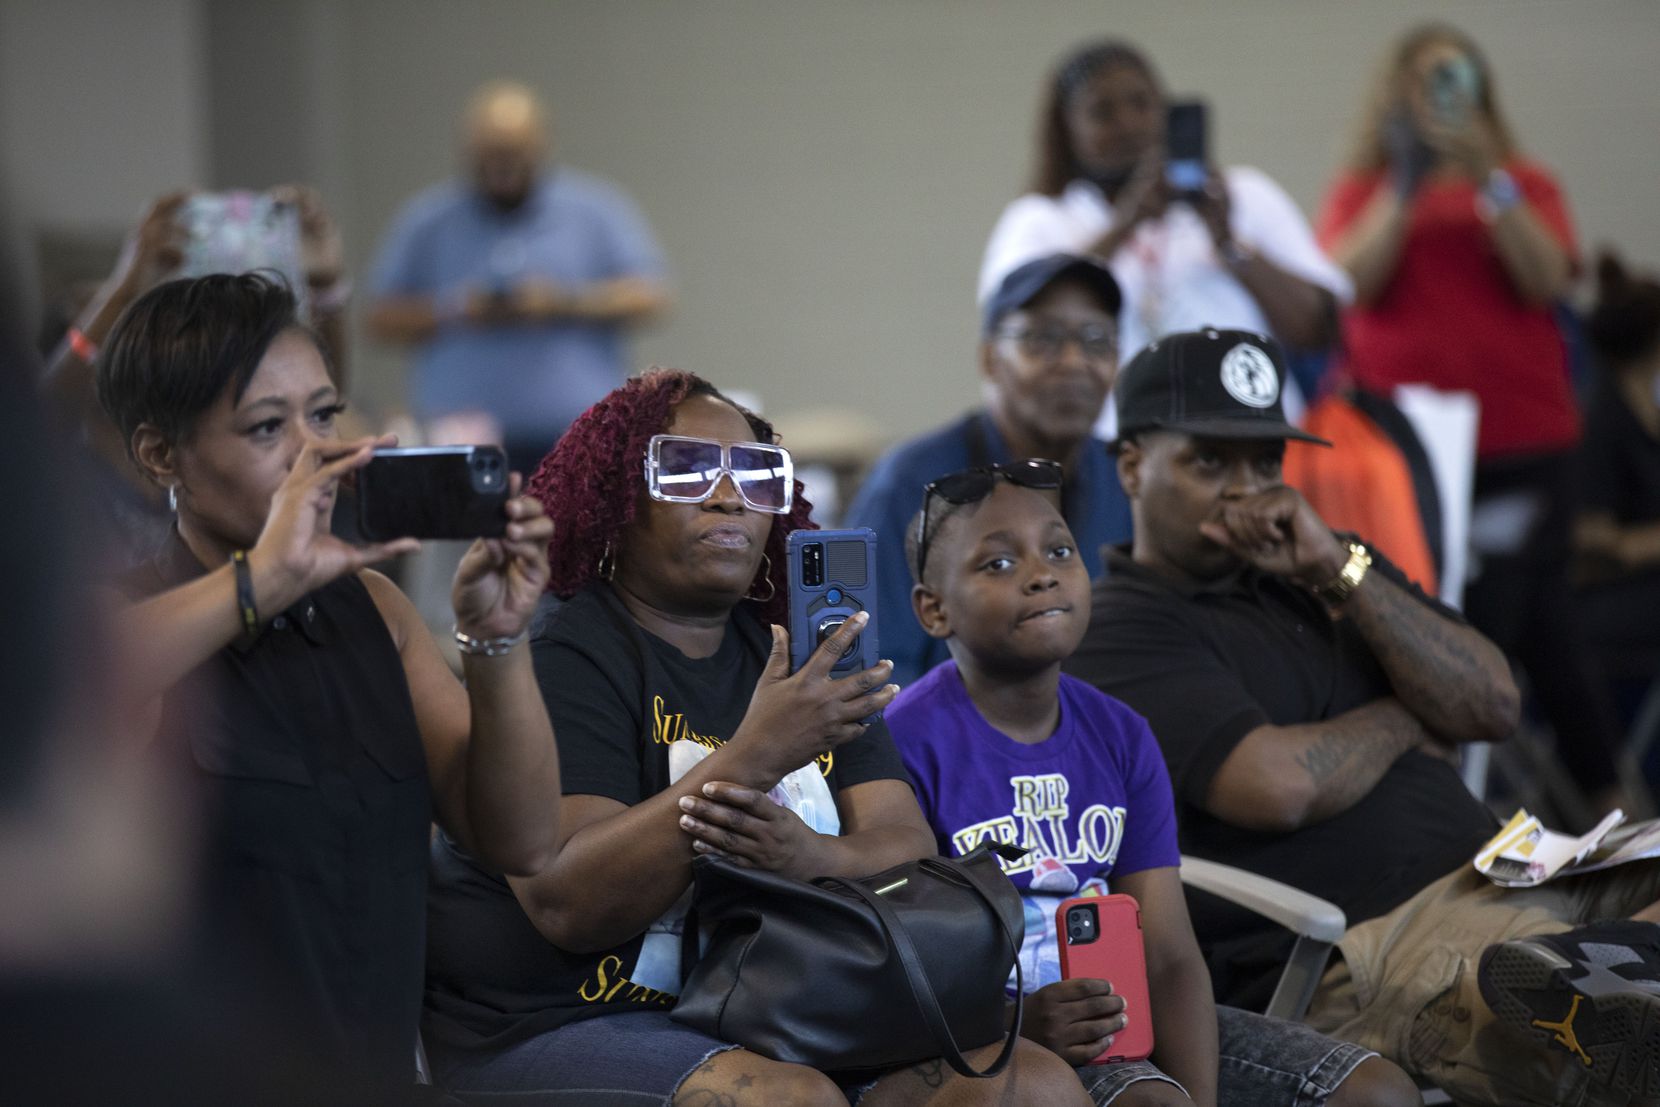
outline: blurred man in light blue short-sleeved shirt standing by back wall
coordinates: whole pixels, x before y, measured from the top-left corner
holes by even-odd
[[[662,254],[634,204],[546,156],[531,91],[481,90],[466,118],[471,179],[403,209],[369,310],[377,337],[415,347],[415,415],[491,417],[525,471],[622,383],[626,329],[667,304]]]

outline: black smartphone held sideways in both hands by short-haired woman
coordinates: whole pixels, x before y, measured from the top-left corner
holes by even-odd
[[[508,526],[501,446],[393,446],[357,471],[357,526],[393,538],[500,538]]]

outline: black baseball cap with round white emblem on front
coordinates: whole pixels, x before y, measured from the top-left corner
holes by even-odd
[[[1119,440],[1139,430],[1204,438],[1331,443],[1285,422],[1280,344],[1250,330],[1187,330],[1159,339],[1119,372]]]

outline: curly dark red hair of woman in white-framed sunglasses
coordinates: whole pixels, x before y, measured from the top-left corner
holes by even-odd
[[[616,548],[618,534],[634,519],[646,473],[646,445],[652,435],[664,432],[674,408],[694,395],[714,397],[735,408],[749,422],[755,441],[779,440],[772,423],[740,403],[732,403],[696,373],[652,368],[631,377],[576,417],[526,486],[553,519],[548,591],[569,597],[599,579],[601,556],[608,546]],[[795,481],[790,513],[774,516],[765,546],[767,559],[749,589],[767,599],[745,601],[762,622],[782,624],[787,619],[785,541],[790,531],[818,529],[810,518],[812,510],[802,483]],[[770,591],[767,583],[772,584]]]

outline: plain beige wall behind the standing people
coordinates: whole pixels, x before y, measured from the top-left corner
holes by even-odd
[[[148,2],[189,33],[184,0]],[[1220,159],[1268,169],[1310,211],[1384,43],[1418,18],[1451,18],[1487,46],[1516,129],[1562,176],[1585,241],[1620,241],[1660,266],[1653,0],[203,5],[199,65],[221,93],[214,183],[269,184],[247,178],[292,151],[365,262],[398,204],[452,171],[466,93],[525,78],[556,106],[561,156],[627,188],[669,252],[679,304],[637,342],[639,365],[754,388],[772,412],[852,405],[885,433],[973,402],[979,251],[1026,176],[1041,75],[1089,35],[1144,45],[1172,90],[1212,101]],[[0,0],[0,27],[46,7]],[[272,27],[282,20],[297,30]],[[75,80],[105,93],[113,81]],[[239,124],[259,111],[252,83],[266,108]],[[189,106],[174,83],[153,91],[144,126],[169,134],[169,113]],[[45,106],[37,96],[23,111],[32,134]],[[133,209],[158,184],[148,164],[105,168],[106,202],[88,212]],[[397,398],[398,357],[367,352],[359,365],[369,405]]]

